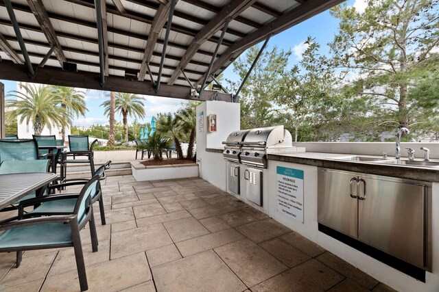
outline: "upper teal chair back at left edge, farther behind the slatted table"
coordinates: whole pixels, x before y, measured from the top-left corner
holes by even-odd
[[[38,146],[34,139],[0,139],[0,161],[36,160],[38,157]]]

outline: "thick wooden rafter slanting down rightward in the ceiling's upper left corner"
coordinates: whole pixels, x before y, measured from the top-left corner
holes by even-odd
[[[62,53],[61,44],[58,41],[58,38],[56,38],[55,29],[50,22],[49,16],[47,16],[47,11],[44,8],[43,1],[27,0],[27,4],[29,4],[29,8],[34,13],[36,21],[38,21],[50,47],[55,48],[56,59],[58,59],[58,62],[60,62],[62,66],[62,62],[66,62],[66,57],[64,56],[64,53]]]

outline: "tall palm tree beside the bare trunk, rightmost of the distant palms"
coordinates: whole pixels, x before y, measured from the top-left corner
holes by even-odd
[[[115,112],[122,115],[123,130],[125,131],[125,141],[128,142],[128,116],[134,118],[144,118],[145,108],[143,101],[145,98],[136,94],[117,92],[115,99]],[[110,114],[111,101],[104,101],[101,105],[105,108],[104,114]]]

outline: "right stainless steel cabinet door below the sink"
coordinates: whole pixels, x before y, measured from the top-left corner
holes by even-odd
[[[425,267],[425,186],[404,183],[399,178],[362,178],[359,240]]]

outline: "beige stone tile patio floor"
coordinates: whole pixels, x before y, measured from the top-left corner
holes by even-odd
[[[102,189],[98,252],[81,232],[89,291],[393,291],[200,178]],[[0,254],[0,291],[79,291],[73,248],[14,261]]]

